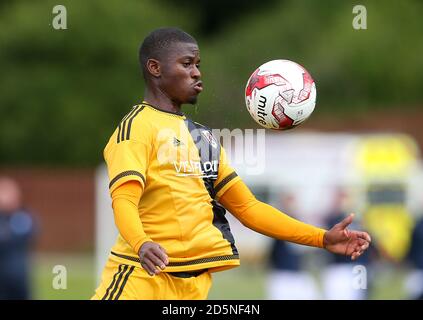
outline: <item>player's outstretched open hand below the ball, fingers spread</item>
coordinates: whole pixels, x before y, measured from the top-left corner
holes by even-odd
[[[332,253],[350,256],[351,260],[363,254],[372,241],[369,234],[363,231],[348,230],[354,214],[350,214],[340,223],[326,231],[323,237],[323,246]]]

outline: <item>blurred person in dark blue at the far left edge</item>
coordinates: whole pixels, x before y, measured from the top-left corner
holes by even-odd
[[[0,299],[30,299],[29,254],[34,222],[18,184],[0,177]]]

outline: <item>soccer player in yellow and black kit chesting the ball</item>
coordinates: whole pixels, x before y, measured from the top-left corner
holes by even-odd
[[[104,149],[119,235],[93,299],[206,299],[211,273],[240,263],[225,208],[277,239],[352,259],[368,248],[367,233],[347,228],[353,215],[326,231],[258,201],[211,130],[181,112],[203,90],[192,36],[154,30],[139,60],[144,100]]]

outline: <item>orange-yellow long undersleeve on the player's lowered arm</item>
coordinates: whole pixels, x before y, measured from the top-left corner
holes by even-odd
[[[137,253],[145,242],[151,241],[144,232],[138,213],[142,192],[141,183],[132,180],[120,185],[112,193],[115,224],[122,237]]]

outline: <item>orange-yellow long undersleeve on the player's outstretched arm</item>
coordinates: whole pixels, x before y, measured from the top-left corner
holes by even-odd
[[[326,230],[296,220],[272,206],[258,201],[240,180],[219,199],[246,227],[272,238],[323,247]]]

